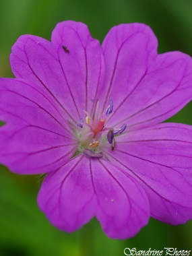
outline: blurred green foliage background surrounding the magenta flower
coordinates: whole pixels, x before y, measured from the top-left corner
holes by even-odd
[[[88,24],[100,42],[112,26],[142,22],[158,37],[159,53],[178,50],[192,56],[190,0],[1,0],[0,76],[13,77],[9,53],[20,35],[50,39],[63,20]],[[171,121],[192,125],[191,113],[188,104]],[[38,210],[39,178],[12,174],[3,166],[0,170],[0,256],[116,256],[123,255],[125,247],[192,249],[192,221],[169,226],[151,219],[137,236],[125,241],[107,238],[96,220],[75,233],[61,232]]]

